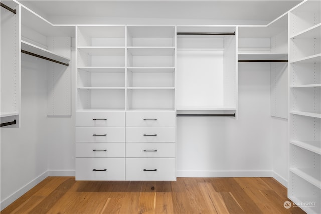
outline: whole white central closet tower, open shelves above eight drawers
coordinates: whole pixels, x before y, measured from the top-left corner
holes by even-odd
[[[76,46],[76,179],[175,180],[175,26],[81,25]]]

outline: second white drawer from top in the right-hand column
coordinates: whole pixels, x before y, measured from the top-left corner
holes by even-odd
[[[175,142],[175,127],[126,127],[126,142]]]

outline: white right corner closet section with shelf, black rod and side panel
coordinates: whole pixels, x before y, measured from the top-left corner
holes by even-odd
[[[269,63],[271,116],[288,117],[288,19],[284,14],[267,26],[238,28],[238,62]]]

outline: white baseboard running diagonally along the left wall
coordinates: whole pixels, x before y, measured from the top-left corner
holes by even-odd
[[[48,171],[44,172],[43,174],[39,175],[20,189],[18,189],[16,192],[14,192],[9,197],[5,198],[3,201],[0,202],[0,210],[3,210],[7,206],[9,206],[11,203],[13,203],[15,200],[17,200],[19,197],[21,197],[23,194],[25,194],[27,191],[35,187],[38,183],[43,181],[46,177],[48,177]]]

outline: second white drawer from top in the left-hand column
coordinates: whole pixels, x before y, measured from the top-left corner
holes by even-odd
[[[125,142],[125,128],[76,127],[76,142]]]

